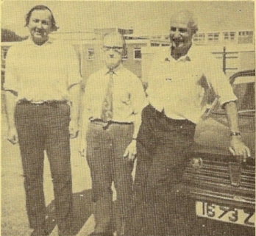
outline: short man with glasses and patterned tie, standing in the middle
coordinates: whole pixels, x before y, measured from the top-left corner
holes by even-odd
[[[122,65],[125,42],[118,33],[104,36],[104,67],[88,78],[83,98],[82,143],[93,185],[96,226],[90,236],[113,235],[112,183],[117,193],[117,235],[124,224],[132,193],[132,168],[141,111],[146,96],[141,80]],[[82,145],[82,154],[85,145]]]

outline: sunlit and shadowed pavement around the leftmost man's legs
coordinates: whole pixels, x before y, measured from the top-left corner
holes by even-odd
[[[6,139],[7,118],[1,112],[1,235],[28,236],[32,229],[26,217],[23,171],[18,144]],[[90,200],[90,169],[84,157],[78,153],[78,140],[71,140],[71,168],[74,193],[74,234],[86,236],[93,232],[93,203]],[[54,193],[49,161],[44,162],[44,192],[48,212],[47,228],[50,236],[57,236],[54,223]],[[73,228],[72,228],[73,231]]]

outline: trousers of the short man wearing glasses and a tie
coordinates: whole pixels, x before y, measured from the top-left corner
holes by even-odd
[[[125,221],[132,194],[133,162],[123,157],[132,141],[132,124],[89,124],[87,132],[87,160],[92,178],[93,201],[96,202],[94,232],[111,232],[113,218],[114,182],[117,200],[115,218],[117,226]]]

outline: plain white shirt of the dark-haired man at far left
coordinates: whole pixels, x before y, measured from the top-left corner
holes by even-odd
[[[4,89],[18,92],[18,99],[69,100],[68,88],[80,80],[77,54],[61,41],[38,46],[29,38],[7,52]]]

